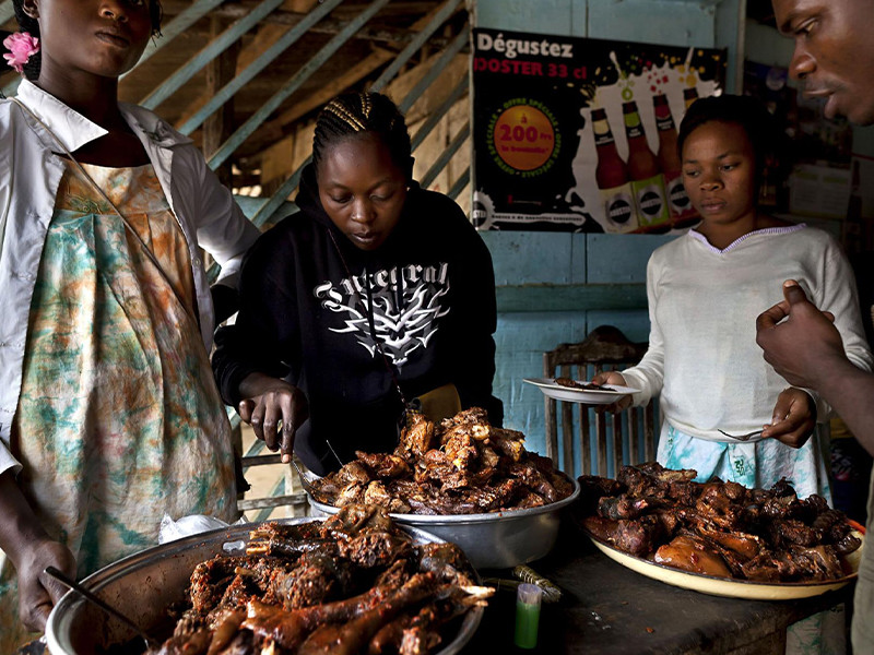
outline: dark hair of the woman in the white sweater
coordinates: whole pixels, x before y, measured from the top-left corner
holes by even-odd
[[[788,138],[765,104],[752,96],[723,94],[698,98],[686,110],[680,123],[676,147],[683,159],[683,144],[689,135],[710,121],[733,123],[743,128],[755,155],[756,192],[766,170],[778,180],[789,172]]]

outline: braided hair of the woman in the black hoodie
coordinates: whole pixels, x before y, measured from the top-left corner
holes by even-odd
[[[410,133],[398,106],[381,93],[346,93],[328,103],[316,118],[312,164],[318,176],[324,151],[356,134],[377,135],[389,148],[391,160],[413,178]]]

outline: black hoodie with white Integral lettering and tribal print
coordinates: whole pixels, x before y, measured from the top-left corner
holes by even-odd
[[[394,230],[364,251],[324,213],[311,165],[295,202],[300,212],[250,249],[239,315],[216,334],[225,402],[236,407],[253,371],[300,388],[310,418],[295,452],[319,474],[340,465],[326,439],[343,462],[394,448],[402,404],[392,372],[408,401],[453,383],[462,407],[485,407],[500,425],[492,258],[461,207],[413,183]]]

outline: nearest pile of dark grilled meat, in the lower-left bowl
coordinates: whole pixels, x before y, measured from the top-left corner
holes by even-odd
[[[383,509],[349,505],[323,523],[261,524],[246,555],[199,564],[150,654],[428,653],[492,592],[457,546],[417,545]]]

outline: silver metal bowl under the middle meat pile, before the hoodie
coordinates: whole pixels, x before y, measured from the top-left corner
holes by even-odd
[[[508,569],[547,555],[558,538],[562,510],[580,495],[580,485],[571,478],[574,491],[567,498],[528,510],[485,514],[390,514],[402,525],[425,529],[447,541],[458,544],[476,569]],[[335,514],[339,508],[309,496],[316,513]]]

